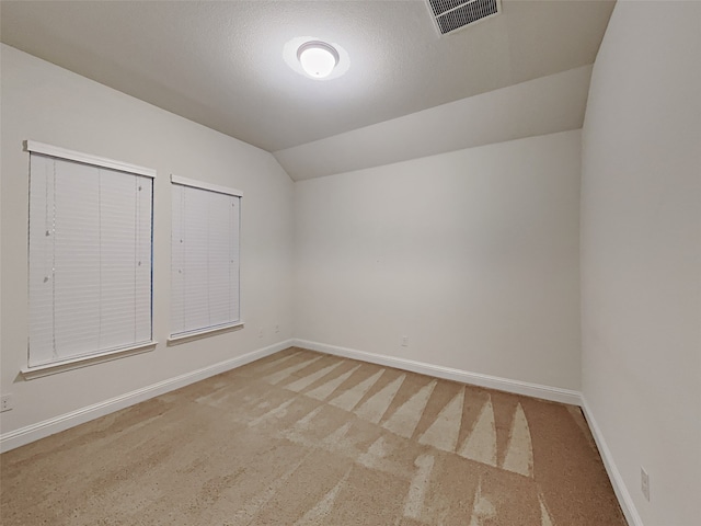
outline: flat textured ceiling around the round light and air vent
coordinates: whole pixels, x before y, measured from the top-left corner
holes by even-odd
[[[439,36],[412,1],[9,1],[1,38],[157,106],[284,150],[594,62],[611,1],[503,0]],[[283,59],[338,43],[348,71],[313,81]]]

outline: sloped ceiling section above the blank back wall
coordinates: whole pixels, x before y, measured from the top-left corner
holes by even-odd
[[[274,153],[295,181],[579,129],[591,66],[429,107]]]

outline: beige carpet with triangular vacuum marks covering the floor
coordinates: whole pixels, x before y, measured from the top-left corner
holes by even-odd
[[[625,524],[577,408],[298,348],[0,460],[4,526]]]

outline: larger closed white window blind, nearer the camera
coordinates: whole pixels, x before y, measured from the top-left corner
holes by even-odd
[[[150,342],[152,176],[44,146],[30,153],[28,366]]]

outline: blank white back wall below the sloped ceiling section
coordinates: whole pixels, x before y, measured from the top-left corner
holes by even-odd
[[[564,132],[297,182],[296,336],[578,390],[579,152]]]

